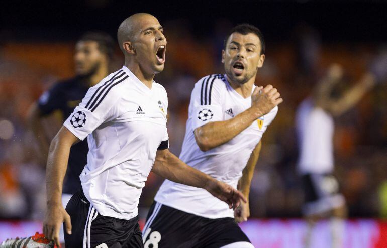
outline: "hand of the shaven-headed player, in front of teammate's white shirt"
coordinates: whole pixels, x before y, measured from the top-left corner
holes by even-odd
[[[247,202],[246,197],[240,191],[215,179],[209,180],[205,189],[233,209],[236,209],[241,202]]]

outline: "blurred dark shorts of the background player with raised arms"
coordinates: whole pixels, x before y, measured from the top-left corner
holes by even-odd
[[[304,215],[319,215],[345,205],[339,183],[332,174],[305,174],[302,176],[302,183]]]

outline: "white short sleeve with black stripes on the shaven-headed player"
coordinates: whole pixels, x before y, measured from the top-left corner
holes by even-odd
[[[80,140],[84,140],[102,123],[119,116],[117,105],[120,99],[116,87],[110,91],[104,90],[103,85],[91,87],[63,125]]]

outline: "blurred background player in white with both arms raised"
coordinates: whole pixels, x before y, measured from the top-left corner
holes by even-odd
[[[343,69],[330,66],[325,78],[315,86],[296,113],[300,157],[298,170],[302,176],[305,204],[302,212],[308,221],[305,246],[311,247],[312,230],[319,218],[331,217],[332,247],[342,246],[343,219],[347,216],[345,199],[339,191],[334,172],[334,117],[352,108],[375,82],[375,73],[366,73],[361,80],[339,97],[334,96]]]

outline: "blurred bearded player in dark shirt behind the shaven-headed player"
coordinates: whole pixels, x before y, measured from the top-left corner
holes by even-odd
[[[30,127],[33,130],[44,158],[47,158],[48,148],[52,137],[49,137],[46,125],[42,120],[60,112],[63,122],[64,116],[69,116],[79,105],[89,87],[99,83],[109,74],[109,62],[113,57],[114,40],[102,32],[88,32],[82,35],[75,45],[75,77],[57,82],[51,89],[44,92],[39,101],[34,103],[29,112]],[[59,127],[51,125],[55,133]],[[52,132],[52,130],[50,130]],[[63,183],[62,203],[66,207],[71,196],[80,188],[79,175],[87,164],[87,141],[80,141],[71,147],[68,167]],[[63,228],[60,234],[64,243]]]

